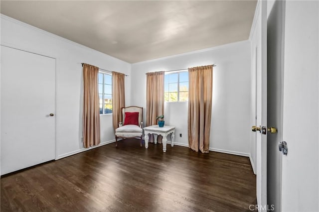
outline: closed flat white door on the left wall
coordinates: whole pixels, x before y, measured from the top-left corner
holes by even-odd
[[[1,46],[1,174],[55,157],[55,59]]]

